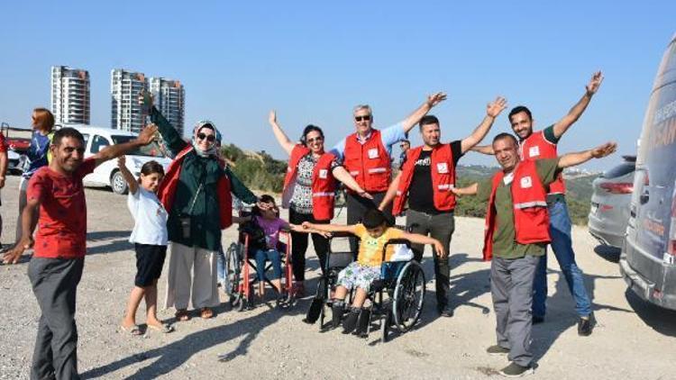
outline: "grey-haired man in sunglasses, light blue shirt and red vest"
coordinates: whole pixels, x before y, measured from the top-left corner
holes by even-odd
[[[436,105],[446,99],[444,93],[427,96],[424,104],[402,122],[398,122],[382,131],[373,128],[373,113],[370,106],[360,104],[354,107],[353,118],[356,131],[340,140],[331,150],[337,158],[343,160],[343,166],[366,192],[373,196],[370,200],[351,191],[347,193],[347,223],[361,222],[367,210],[378,207],[385,197],[391,180],[392,145],[406,140],[410,131],[420,119]],[[392,218],[391,209],[384,210]],[[358,242],[350,239],[350,249],[356,254]]]

